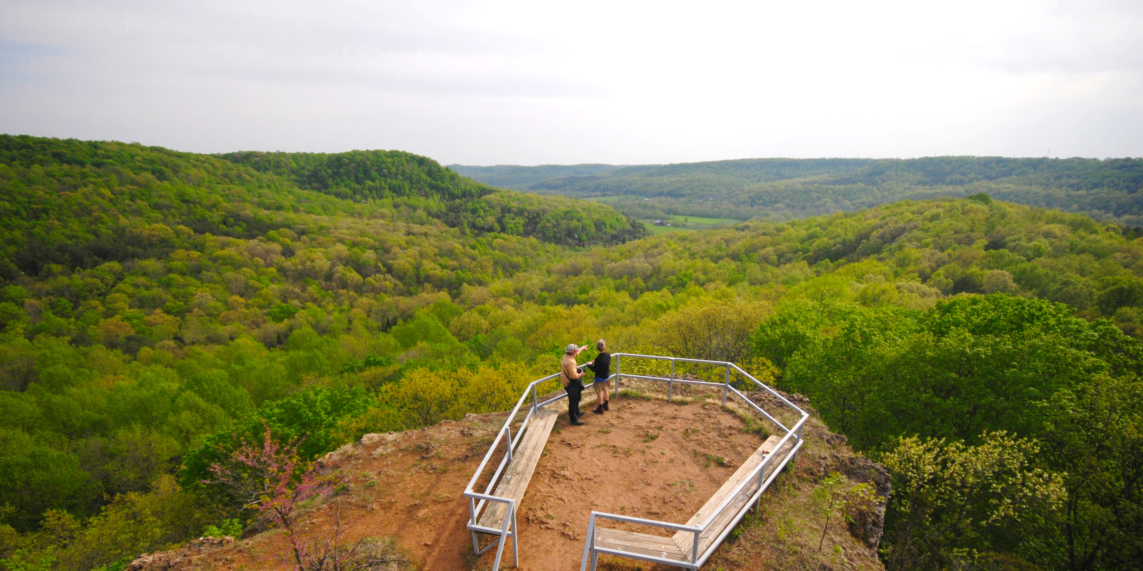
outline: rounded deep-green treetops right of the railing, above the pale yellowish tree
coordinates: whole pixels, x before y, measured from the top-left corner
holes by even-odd
[[[831,427],[866,450],[898,434],[1033,433],[1036,403],[1060,389],[1140,373],[1138,341],[1110,323],[1005,295],[926,311],[800,301],[764,321],[757,340],[762,356],[785,363],[781,385],[814,395]]]

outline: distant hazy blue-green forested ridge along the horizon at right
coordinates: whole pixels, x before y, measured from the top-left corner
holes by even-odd
[[[485,167],[507,169],[520,167]],[[473,169],[483,180],[496,176]],[[520,175],[517,174],[517,177]],[[529,190],[608,203],[636,218],[696,216],[772,220],[855,211],[898,200],[988,193],[1022,204],[1143,225],[1143,160],[744,159],[636,166],[538,180]]]

